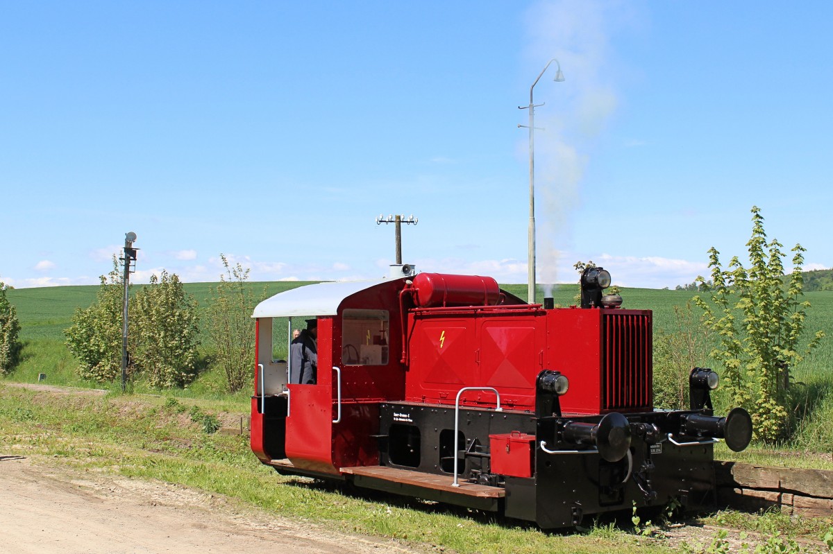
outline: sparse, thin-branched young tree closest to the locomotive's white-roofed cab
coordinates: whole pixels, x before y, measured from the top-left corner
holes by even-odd
[[[228,392],[234,393],[252,375],[255,300],[246,286],[249,270],[244,270],[239,263],[232,267],[225,255],[221,254],[220,259],[226,274],[220,275],[220,284],[212,290],[207,310],[208,334],[217,349],[214,364],[225,373]]]

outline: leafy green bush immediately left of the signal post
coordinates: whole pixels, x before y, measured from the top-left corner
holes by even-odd
[[[72,325],[64,331],[67,347],[80,362],[78,374],[97,383],[112,381],[122,370],[124,284],[116,256],[112,265],[112,271],[100,277],[96,301],[76,309]]]

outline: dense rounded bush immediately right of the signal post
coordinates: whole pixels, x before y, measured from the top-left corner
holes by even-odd
[[[182,288],[177,274],[151,276],[150,286],[132,300],[135,351],[132,358],[152,387],[190,383],[196,375],[199,344],[196,301]]]

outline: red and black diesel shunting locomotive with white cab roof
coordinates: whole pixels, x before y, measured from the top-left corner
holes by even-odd
[[[741,408],[712,415],[717,375],[691,371],[691,409],[655,411],[650,310],[603,296],[526,304],[489,277],[311,284],[257,305],[252,451],[324,477],[502,512],[541,528],[637,507],[685,507],[715,487],[713,443],[751,440]],[[551,303],[550,303],[551,304]],[[288,383],[272,319],[317,317],[317,382]]]

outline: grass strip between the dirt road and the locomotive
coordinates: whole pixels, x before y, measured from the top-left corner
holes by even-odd
[[[526,524],[433,502],[282,477],[252,456],[247,438],[207,434],[192,406],[148,396],[36,392],[0,383],[0,452],[80,470],[159,479],[227,495],[242,505],[329,529],[394,537],[456,552],[671,552],[626,532],[546,533]]]

